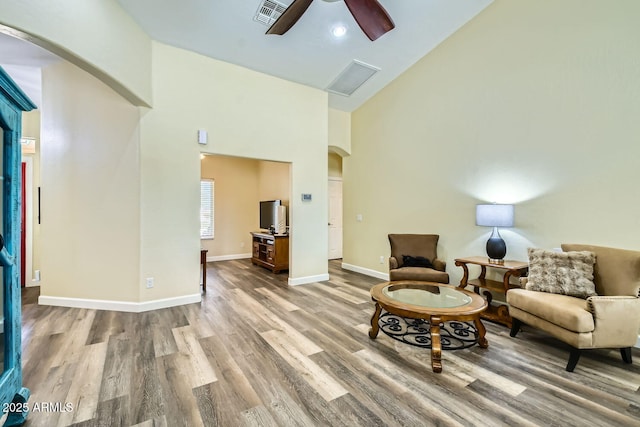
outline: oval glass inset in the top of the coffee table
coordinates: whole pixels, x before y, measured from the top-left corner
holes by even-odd
[[[456,289],[437,285],[389,285],[382,293],[387,297],[421,307],[455,308],[471,303],[471,297]]]

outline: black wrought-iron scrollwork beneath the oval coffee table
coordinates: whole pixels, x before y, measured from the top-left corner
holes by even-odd
[[[378,326],[395,340],[431,348],[431,325],[427,320],[405,318],[382,311]],[[451,320],[440,324],[440,344],[443,350],[459,350],[477,342],[478,329],[471,322]]]

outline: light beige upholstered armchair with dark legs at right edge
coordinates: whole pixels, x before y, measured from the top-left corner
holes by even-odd
[[[573,372],[583,349],[618,348],[624,362],[631,363],[631,347],[640,329],[640,252],[578,244],[563,244],[562,250],[595,254],[593,283],[597,296],[585,299],[511,289],[507,292],[513,317],[511,336],[515,337],[525,323],[571,345],[566,367],[569,372]]]

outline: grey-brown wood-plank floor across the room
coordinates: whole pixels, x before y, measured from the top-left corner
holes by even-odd
[[[485,322],[489,348],[444,351],[435,374],[429,350],[369,339],[380,281],[329,268],[287,287],[248,260],[210,263],[201,304],[141,314],[38,306],[28,289],[24,383],[40,411],[26,426],[640,425],[638,349],[633,365],[587,352],[568,373],[566,345]]]

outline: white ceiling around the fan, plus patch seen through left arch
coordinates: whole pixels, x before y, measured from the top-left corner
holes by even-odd
[[[114,0],[115,1],[115,0]],[[378,0],[395,28],[370,41],[341,0],[316,0],[284,35],[266,35],[256,19],[265,0],[117,0],[160,42],[321,90],[354,61],[379,70],[329,106],[353,111],[473,19],[493,0]],[[268,2],[276,0],[266,0]],[[293,0],[277,0],[287,7]],[[333,29],[343,26],[342,37]],[[38,69],[56,60],[0,34],[0,65],[38,103]]]

